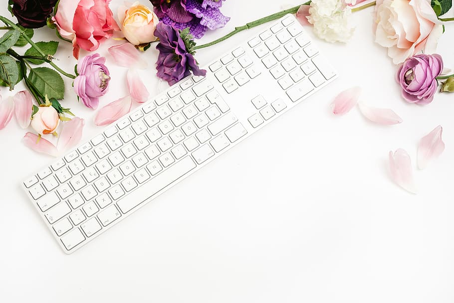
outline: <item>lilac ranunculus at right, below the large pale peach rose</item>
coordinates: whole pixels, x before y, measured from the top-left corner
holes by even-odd
[[[439,54],[419,54],[405,60],[396,74],[404,99],[422,105],[431,103],[442,71],[443,59]]]

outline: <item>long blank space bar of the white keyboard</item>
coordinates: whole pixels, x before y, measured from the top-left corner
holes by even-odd
[[[126,214],[172,182],[189,173],[194,168],[196,168],[196,163],[194,163],[191,157],[186,157],[145,183],[143,186],[131,192],[124,199],[118,201],[117,205],[121,212]]]

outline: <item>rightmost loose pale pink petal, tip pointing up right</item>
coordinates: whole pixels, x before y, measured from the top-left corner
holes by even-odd
[[[442,134],[443,127],[439,125],[421,139],[418,146],[418,167],[420,169],[426,168],[432,159],[438,158],[445,150]]]

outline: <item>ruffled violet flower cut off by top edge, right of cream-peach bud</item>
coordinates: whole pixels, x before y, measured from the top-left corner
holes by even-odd
[[[189,27],[191,34],[201,38],[208,29],[227,24],[229,17],[221,13],[225,0],[150,0],[158,17],[178,29]]]

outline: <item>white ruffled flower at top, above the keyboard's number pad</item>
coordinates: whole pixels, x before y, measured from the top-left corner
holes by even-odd
[[[345,0],[312,0],[307,20],[314,24],[314,31],[318,37],[328,42],[347,42],[352,37],[355,31],[350,21],[352,10],[345,2]]]

